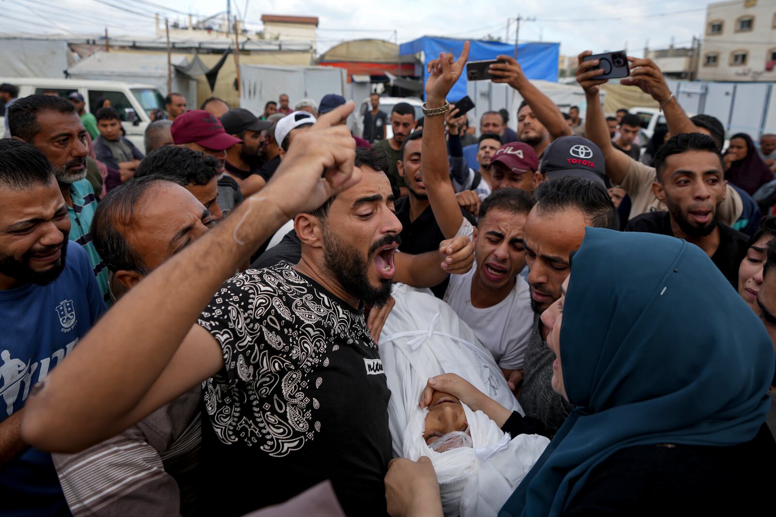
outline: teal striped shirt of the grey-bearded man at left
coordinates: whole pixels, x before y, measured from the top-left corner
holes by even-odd
[[[97,209],[97,198],[95,196],[92,184],[88,180],[75,181],[70,185],[70,198],[72,206],[68,206],[68,215],[70,216],[70,240],[74,240],[83,246],[92,264],[92,272],[97,278],[102,300],[110,306],[111,298],[108,291],[108,267],[102,261],[102,257],[97,253],[94,243],[92,243],[92,234],[89,228],[92,226],[92,217]]]

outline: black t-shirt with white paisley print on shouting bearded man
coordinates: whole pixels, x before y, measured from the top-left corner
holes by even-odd
[[[347,515],[386,515],[390,391],[363,310],[281,262],[228,280],[199,325],[224,360],[203,383],[207,515],[326,479]]]

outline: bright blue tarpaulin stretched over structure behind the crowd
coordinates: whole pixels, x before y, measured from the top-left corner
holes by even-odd
[[[457,59],[463,50],[464,41],[466,40],[423,36],[409,43],[403,43],[399,47],[399,55],[424,53],[423,83],[425,84],[428,78],[426,64],[439,57],[440,52],[452,53]],[[518,63],[528,79],[557,82],[559,53],[560,43],[520,43],[518,45]],[[514,45],[498,41],[469,40],[469,61],[496,59],[499,54],[514,56]],[[466,95],[467,82],[466,71],[464,71],[456,85],[450,90],[448,95],[450,102],[456,102]]]

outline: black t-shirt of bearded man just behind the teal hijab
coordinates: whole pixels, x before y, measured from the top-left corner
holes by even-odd
[[[712,262],[737,289],[738,268],[741,265],[741,260],[747,254],[749,237],[722,222],[717,222],[717,226],[719,227],[719,246],[712,256]],[[636,215],[625,225],[625,231],[674,236],[668,212],[647,212]]]

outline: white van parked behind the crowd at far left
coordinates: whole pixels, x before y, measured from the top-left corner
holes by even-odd
[[[106,97],[119,112],[126,138],[143,152],[143,136],[151,122],[149,113],[155,108],[165,109],[165,98],[151,84],[55,78],[0,78],[0,83],[19,87],[19,98],[46,92],[56,92],[61,98],[68,98],[73,91],[78,91],[84,96],[88,112],[92,111],[92,105],[98,98]],[[0,127],[4,124],[3,120],[0,117]]]

